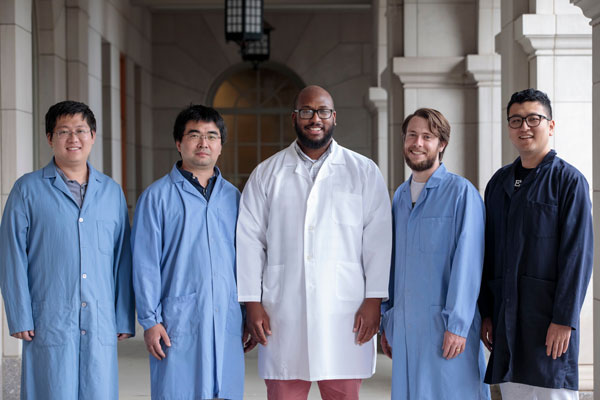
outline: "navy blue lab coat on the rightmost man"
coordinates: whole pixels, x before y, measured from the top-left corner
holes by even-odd
[[[551,150],[515,192],[518,162],[498,170],[485,191],[479,307],[493,324],[485,382],[577,390],[579,313],[593,266],[588,183]],[[573,329],[556,360],[546,355],[550,322]]]

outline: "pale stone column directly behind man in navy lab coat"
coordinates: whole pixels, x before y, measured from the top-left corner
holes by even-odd
[[[556,121],[552,147],[592,183],[592,30],[569,0],[502,2],[502,31],[496,38],[502,55],[502,106],[510,95],[533,87],[548,94]],[[503,163],[517,153],[503,124]],[[594,202],[597,204],[597,202]],[[598,215],[595,213],[594,215]],[[597,239],[596,239],[597,240]],[[579,387],[593,387],[592,290],[581,312]],[[596,335],[597,336],[597,335]]]

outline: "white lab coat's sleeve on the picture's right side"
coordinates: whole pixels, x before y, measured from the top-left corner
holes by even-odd
[[[375,163],[370,163],[363,189],[362,262],[365,297],[388,298],[392,255],[392,210],[387,187]]]

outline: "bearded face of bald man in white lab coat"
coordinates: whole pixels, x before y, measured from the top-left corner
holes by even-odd
[[[309,88],[300,93],[296,106],[299,110],[333,110],[333,100],[325,90]],[[298,113],[292,113],[292,121],[300,144],[309,149],[320,149],[327,146],[333,136],[335,111],[329,118],[321,118],[314,112],[310,119],[303,119]]]

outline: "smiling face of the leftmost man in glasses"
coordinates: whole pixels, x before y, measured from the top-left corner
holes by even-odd
[[[46,135],[46,139],[59,167],[81,167],[92,151],[96,132],[90,129],[83,114],[63,115],[56,119],[52,137]]]

